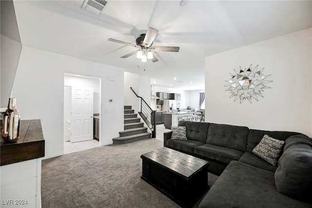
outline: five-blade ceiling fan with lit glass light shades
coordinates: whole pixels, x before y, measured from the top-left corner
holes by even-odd
[[[146,62],[147,59],[151,59],[153,62],[158,61],[159,59],[153,54],[153,51],[169,51],[169,52],[178,52],[180,47],[173,47],[173,46],[153,46],[153,41],[156,38],[158,30],[149,27],[146,34],[141,34],[140,37],[136,39],[136,43],[128,43],[121,40],[109,38],[109,41],[118,42],[125,45],[130,45],[136,47],[137,50],[133,51],[129,54],[122,56],[121,58],[127,58],[132,55],[137,54],[137,58],[141,58],[142,62]]]

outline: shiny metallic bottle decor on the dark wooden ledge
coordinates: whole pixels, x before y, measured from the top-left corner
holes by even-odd
[[[5,142],[17,142],[20,138],[20,112],[16,98],[10,98],[8,108],[2,118],[2,138]]]

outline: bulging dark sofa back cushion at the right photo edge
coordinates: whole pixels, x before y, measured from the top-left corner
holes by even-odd
[[[279,192],[299,200],[312,201],[311,138],[298,134],[285,140],[274,178]]]

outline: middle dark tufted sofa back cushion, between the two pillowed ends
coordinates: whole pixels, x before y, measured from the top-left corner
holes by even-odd
[[[246,151],[248,132],[248,127],[211,123],[206,143]]]

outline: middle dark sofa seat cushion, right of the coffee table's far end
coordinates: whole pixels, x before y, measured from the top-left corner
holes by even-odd
[[[231,148],[204,144],[195,147],[194,153],[207,159],[213,159],[225,164],[229,164],[232,160],[238,160],[244,152]]]

